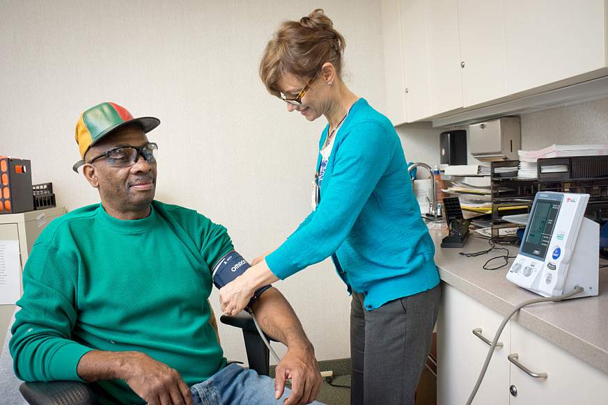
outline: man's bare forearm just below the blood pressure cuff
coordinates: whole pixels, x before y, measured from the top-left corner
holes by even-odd
[[[265,333],[287,347],[314,351],[293,308],[278,289],[267,289],[252,306]]]

